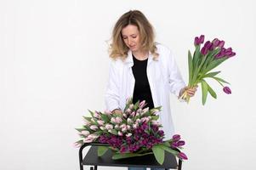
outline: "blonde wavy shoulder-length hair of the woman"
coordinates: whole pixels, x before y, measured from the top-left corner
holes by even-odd
[[[116,25],[112,31],[111,46],[109,48],[110,57],[112,59],[126,59],[129,48],[122,39],[122,28],[133,25],[137,26],[139,30],[139,38],[141,49],[143,51],[150,51],[153,59],[156,59],[159,54],[156,53],[155,33],[153,26],[146,19],[145,15],[139,10],[130,10],[117,20]]]

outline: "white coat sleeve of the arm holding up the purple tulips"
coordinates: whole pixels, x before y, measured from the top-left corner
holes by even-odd
[[[172,94],[179,96],[181,88],[185,88],[185,82],[183,81],[178,65],[174,59],[172,51],[168,50],[168,87]]]

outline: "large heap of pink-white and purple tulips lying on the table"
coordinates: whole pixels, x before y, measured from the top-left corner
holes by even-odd
[[[76,128],[82,139],[75,145],[80,147],[84,143],[93,142],[109,144],[110,147],[98,147],[98,156],[103,156],[105,151],[111,149],[114,152],[112,159],[116,160],[154,154],[156,161],[162,164],[165,150],[186,160],[187,156],[179,150],[185,144],[179,134],[163,141],[164,132],[157,122],[157,113],[161,107],[149,110],[145,105],[145,101],[133,104],[132,99],[128,99],[122,114],[89,111],[91,117],[83,116],[84,125]]]

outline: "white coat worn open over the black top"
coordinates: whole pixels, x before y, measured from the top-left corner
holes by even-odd
[[[165,139],[171,139],[174,135],[174,123],[171,116],[169,92],[179,96],[179,91],[185,87],[185,82],[179,73],[172,52],[160,43],[156,43],[156,48],[159,57],[157,60],[153,60],[152,54],[149,53],[146,71],[154,106],[162,106],[158,121],[162,124]],[[128,57],[123,61],[122,59],[111,60],[109,81],[105,93],[107,111],[117,108],[123,111],[126,100],[133,97],[135,84],[133,65],[131,51],[128,51]]]

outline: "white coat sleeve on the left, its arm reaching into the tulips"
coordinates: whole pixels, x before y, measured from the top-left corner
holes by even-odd
[[[105,106],[107,111],[114,111],[115,109],[120,108],[120,80],[118,75],[117,61],[111,60],[109,78],[105,92]]]

